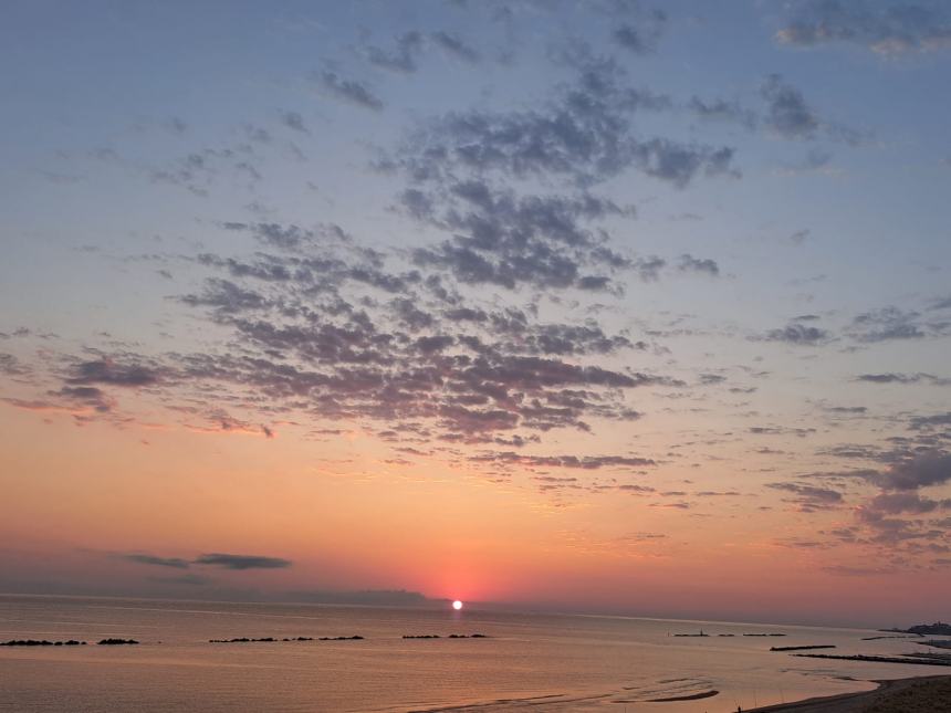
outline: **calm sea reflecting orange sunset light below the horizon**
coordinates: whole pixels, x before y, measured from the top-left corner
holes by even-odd
[[[710,633],[682,638],[675,633]],[[483,633],[484,639],[448,639]],[[729,635],[732,637],[718,636]],[[784,633],[750,637],[744,633]],[[349,641],[210,643],[240,637]],[[440,635],[439,639],[404,639]],[[858,629],[323,605],[0,596],[0,711],[744,710],[872,688],[936,667],[804,659],[921,651]],[[103,638],[138,646],[95,646]],[[649,703],[719,691],[694,701]]]

